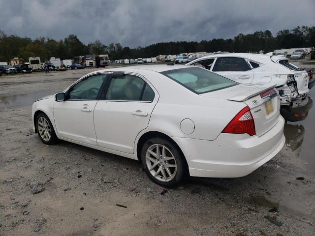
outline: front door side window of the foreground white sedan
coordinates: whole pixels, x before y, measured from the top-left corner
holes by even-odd
[[[96,100],[107,74],[93,75],[81,80],[69,89],[66,100]]]

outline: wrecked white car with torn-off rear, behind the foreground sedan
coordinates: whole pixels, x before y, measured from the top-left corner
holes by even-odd
[[[187,65],[204,67],[231,80],[251,85],[276,85],[283,106],[307,97],[309,77],[306,71],[291,70],[283,56],[233,53],[209,55]]]

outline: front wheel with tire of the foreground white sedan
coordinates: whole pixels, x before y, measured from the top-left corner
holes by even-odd
[[[57,135],[54,130],[54,126],[50,122],[50,119],[44,113],[39,113],[36,117],[36,130],[40,140],[47,145],[54,145],[58,142]],[[48,133],[48,134],[45,134]],[[50,137],[49,137],[50,136]]]

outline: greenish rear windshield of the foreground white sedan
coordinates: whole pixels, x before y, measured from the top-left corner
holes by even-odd
[[[238,85],[230,79],[199,67],[167,70],[161,72],[161,74],[197,94]]]

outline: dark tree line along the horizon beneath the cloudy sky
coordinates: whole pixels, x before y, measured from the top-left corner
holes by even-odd
[[[120,43],[104,45],[96,39],[89,44],[82,43],[76,35],[70,34],[63,40],[38,37],[19,37],[6,35],[0,30],[0,61],[9,61],[14,57],[50,57],[72,59],[75,56],[109,54],[110,59],[149,58],[157,55],[176,55],[185,52],[217,52],[235,53],[272,52],[280,48],[299,48],[315,46],[315,27],[296,27],[277,32],[274,37],[269,30],[256,31],[252,34],[239,34],[233,39],[215,38],[200,42],[161,42],[146,47],[129,48]]]

